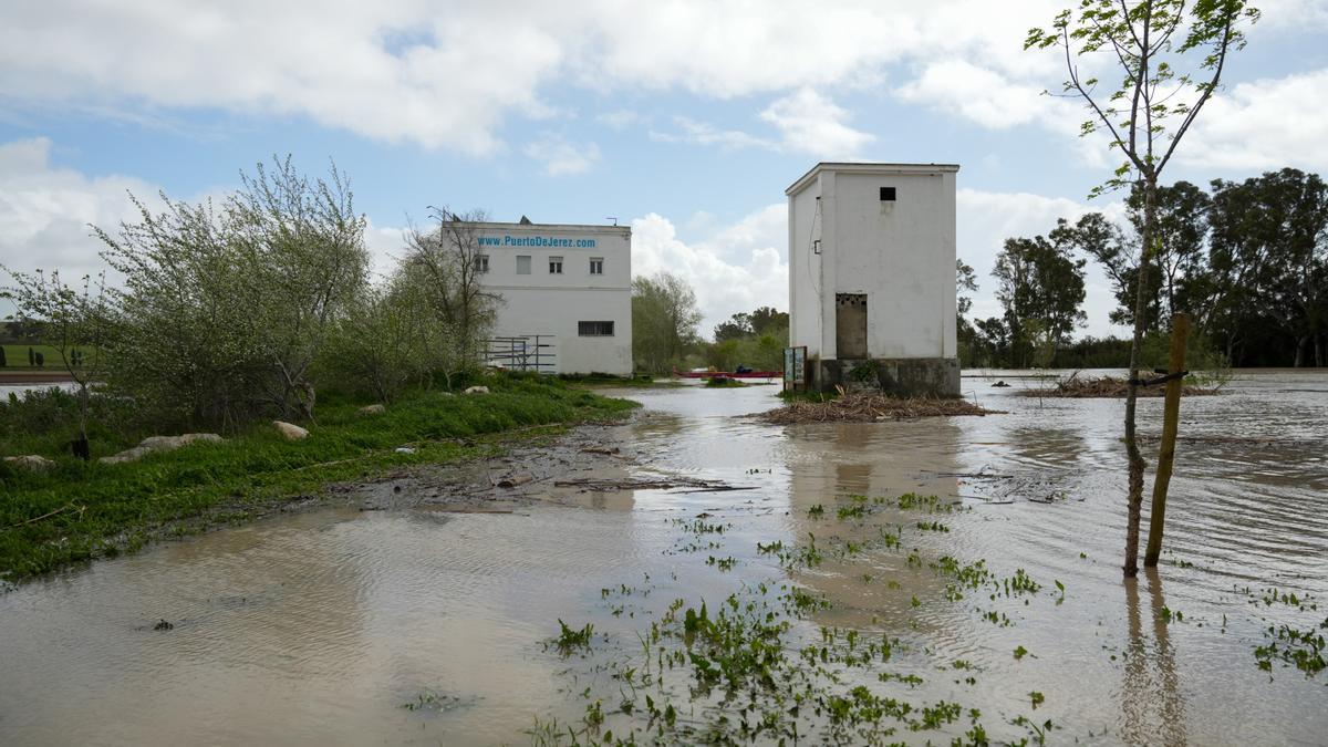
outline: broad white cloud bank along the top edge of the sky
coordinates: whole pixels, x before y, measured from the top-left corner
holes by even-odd
[[[1036,54],[1019,41],[1053,7],[849,0],[809,15],[793,0],[758,11],[746,0],[382,0],[329,13],[315,0],[9,3],[0,11],[0,96],[81,110],[297,116],[486,154],[502,148],[505,120],[551,114],[542,92],[555,82],[722,98],[793,92],[770,110],[790,142],[845,150],[862,133],[799,118],[798,106],[815,102],[809,90],[875,85],[900,61],[964,57],[1027,72]]]

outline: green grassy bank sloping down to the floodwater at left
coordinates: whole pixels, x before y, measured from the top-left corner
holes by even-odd
[[[195,444],[130,464],[84,464],[29,447],[50,436],[0,437],[5,455],[44,453],[57,468],[33,473],[0,463],[0,580],[20,581],[64,565],[207,526],[243,521],[329,482],[389,469],[449,463],[502,449],[505,439],[531,437],[635,407],[556,381],[495,377],[489,395],[413,392],[385,413],[360,416],[364,403],[320,404],[317,425],[301,441],[270,425],[222,444]],[[518,428],[548,425],[510,432]],[[509,436],[503,436],[509,433]],[[126,445],[102,444],[98,452]],[[397,453],[409,445],[414,453]]]

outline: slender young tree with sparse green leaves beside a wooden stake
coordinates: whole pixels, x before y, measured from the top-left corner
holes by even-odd
[[[1089,110],[1081,133],[1105,132],[1112,150],[1123,157],[1112,178],[1093,194],[1135,182],[1143,189],[1130,384],[1125,399],[1125,448],[1130,465],[1126,577],[1138,574],[1145,464],[1134,437],[1134,409],[1150,287],[1149,261],[1157,251],[1158,177],[1218,90],[1227,56],[1244,47],[1242,27],[1258,19],[1259,11],[1244,0],[1081,0],[1077,9],[1058,13],[1049,28],[1031,29],[1024,41],[1025,49],[1064,49],[1068,80],[1062,94],[1082,100]],[[1114,68],[1112,74],[1118,76],[1116,85],[1100,85],[1096,76],[1080,70],[1081,60],[1096,66],[1104,56]]]

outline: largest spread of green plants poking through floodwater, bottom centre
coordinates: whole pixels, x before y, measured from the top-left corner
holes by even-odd
[[[837,501],[838,521],[859,526],[876,513],[930,512],[947,505],[936,496],[908,493],[898,498],[846,496]],[[825,506],[811,514],[825,517]],[[675,521],[687,532],[720,536],[703,518]],[[920,526],[920,525],[919,525]],[[934,524],[919,528],[935,530]],[[778,560],[788,570],[814,569],[829,557],[858,556],[869,549],[900,552],[903,525],[894,525],[883,537],[892,542],[854,542],[809,534],[803,542],[757,544],[757,554]],[[1045,598],[1042,585],[1019,569],[999,578],[985,562],[961,562],[952,557],[910,562],[899,572],[931,574],[948,580],[951,591],[942,603],[964,599],[963,590],[981,590],[993,610],[973,607],[973,613],[995,615],[1012,625],[1011,609],[1027,606],[1032,598]],[[714,556],[710,556],[714,560]],[[706,562],[706,565],[717,565]],[[720,570],[724,570],[722,568]],[[649,581],[649,580],[647,580]],[[1064,587],[1057,584],[1060,595]],[[623,585],[623,589],[628,589]],[[887,589],[900,590],[894,582]],[[649,589],[632,589],[641,597]],[[608,595],[606,590],[606,597]],[[907,591],[899,591],[907,593]],[[1054,597],[1054,594],[1053,594]],[[1053,607],[1058,606],[1058,601]],[[915,594],[911,606],[920,606]],[[911,642],[887,630],[858,630],[817,625],[811,615],[833,611],[825,597],[786,581],[746,582],[742,590],[720,603],[705,599],[672,598],[640,629],[627,634],[606,634],[591,642],[590,627],[575,630],[562,623],[554,646],[566,655],[580,653],[591,659],[592,671],[607,674],[604,686],[579,690],[584,715],[579,723],[559,723],[537,718],[530,731],[535,744],[665,744],[665,743],[834,743],[895,744],[918,735],[931,743],[988,744],[1000,732],[1011,744],[1042,743],[1060,728],[1050,719],[1035,719],[1017,712],[1000,715],[1003,726],[993,728],[991,715],[951,698],[928,700],[914,690],[924,685],[927,670],[963,671],[956,683],[977,683],[979,667],[964,659],[940,663],[924,642]],[[1020,646],[1016,658],[1027,654]],[[927,663],[931,662],[931,663]],[[961,695],[960,695],[961,696]],[[1045,704],[1037,691],[1027,696],[1029,710]],[[991,731],[989,731],[991,730]]]

